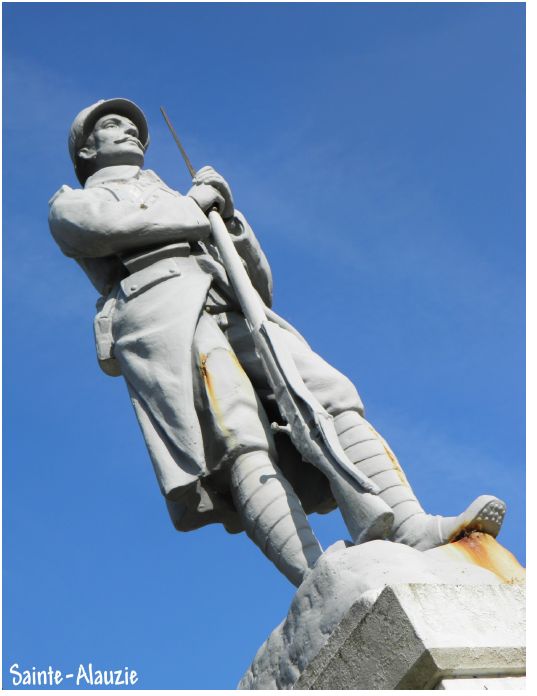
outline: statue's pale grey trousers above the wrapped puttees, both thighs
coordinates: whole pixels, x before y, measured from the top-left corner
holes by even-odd
[[[352,382],[297,336],[278,327],[306,387],[332,416],[363,412]],[[263,366],[241,315],[204,313],[194,336],[194,360],[203,384],[198,403],[200,418],[209,418],[208,459],[234,461],[248,451],[275,455],[274,440],[258,393],[270,392]],[[255,388],[252,389],[252,385]],[[204,408],[205,407],[205,408]],[[204,428],[205,430],[205,428]],[[213,464],[214,467],[214,464]]]

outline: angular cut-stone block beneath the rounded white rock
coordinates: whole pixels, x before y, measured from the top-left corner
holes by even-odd
[[[524,597],[520,585],[386,587],[365,616],[351,609],[293,688],[485,688],[471,678],[524,675]]]

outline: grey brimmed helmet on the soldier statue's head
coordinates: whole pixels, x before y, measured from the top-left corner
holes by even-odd
[[[75,167],[76,176],[82,185],[85,183],[90,172],[87,162],[78,157],[78,152],[80,148],[84,147],[88,136],[93,130],[93,126],[99,118],[105,114],[112,113],[130,118],[138,128],[138,138],[144,146],[144,151],[147,150],[149,146],[149,129],[144,112],[129,99],[122,99],[120,97],[116,99],[100,99],[95,104],[82,109],[71,125],[68,140],[69,154],[71,155],[71,160]]]

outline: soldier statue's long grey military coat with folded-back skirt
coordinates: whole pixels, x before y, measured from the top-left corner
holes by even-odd
[[[207,303],[236,306],[207,217],[154,172],[121,165],[99,170],[84,189],[63,186],[50,201],[49,223],[61,250],[101,294],[100,364],[126,380],[176,527],[221,521],[240,531],[230,498],[211,485],[194,398],[198,319]],[[238,211],[226,224],[270,312],[271,272],[259,243]],[[271,319],[291,328],[274,313]],[[316,470],[312,475],[318,478]],[[325,484],[320,497],[331,499]]]

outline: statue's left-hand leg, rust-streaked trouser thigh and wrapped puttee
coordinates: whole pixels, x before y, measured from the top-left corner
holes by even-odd
[[[207,314],[196,328],[193,353],[200,375],[197,410],[210,468],[229,468],[229,487],[246,533],[298,586],[322,549],[276,464],[259,397],[224,333]]]

